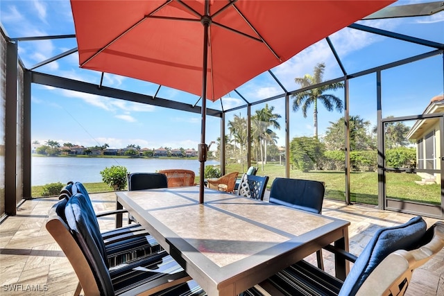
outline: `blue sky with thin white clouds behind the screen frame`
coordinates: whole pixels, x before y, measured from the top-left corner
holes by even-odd
[[[398,1],[394,5],[429,1]],[[46,35],[74,34],[74,23],[69,1],[0,1],[0,21],[9,37],[32,37]],[[383,19],[359,21],[359,24],[382,28],[387,31],[411,35],[413,37],[444,43],[444,12],[430,17],[404,19]],[[341,61],[348,73],[357,73],[371,67],[394,62],[412,55],[432,51],[431,48],[391,40],[370,33],[344,28],[330,36]],[[42,40],[19,42],[19,57],[28,68],[55,55],[76,47],[75,39]],[[298,89],[293,81],[305,73],[312,73],[318,62],[325,62],[324,80],[342,76],[327,42],[310,46],[275,69],[275,76],[287,90]],[[101,73],[83,70],[78,67],[77,53],[35,69],[62,77],[96,83],[99,85]],[[157,85],[149,82],[105,74],[103,85],[125,89],[153,96]],[[383,116],[407,116],[422,114],[430,99],[443,94],[443,56],[421,60],[411,64],[388,69],[382,72]],[[263,98],[282,94],[282,89],[268,73],[262,73],[237,89],[248,101],[256,102]],[[343,98],[343,91],[335,93]],[[198,97],[161,87],[157,96],[184,103],[195,104]],[[359,115],[376,124],[376,76],[350,80],[350,114]],[[244,101],[235,92],[222,98],[224,110]],[[200,105],[200,103],[198,103]],[[275,112],[282,114],[278,145],[284,145],[284,100],[268,102]],[[59,143],[71,142],[83,146],[103,145],[121,148],[129,144],[142,148],[197,148],[200,142],[200,114],[178,112],[161,107],[130,103],[122,100],[81,94],[63,89],[53,89],[42,85],[32,87],[32,140],[51,139]],[[221,102],[207,102],[207,107],[221,110]],[[253,113],[264,104],[253,106]],[[290,114],[290,136],[311,136],[313,134],[312,109],[307,119],[302,113]],[[227,121],[234,114],[246,116],[246,109],[229,112]],[[337,121],[343,113],[318,110],[319,134],[331,121]],[[407,123],[408,124],[408,123]],[[220,121],[207,117],[206,142],[219,137]]]

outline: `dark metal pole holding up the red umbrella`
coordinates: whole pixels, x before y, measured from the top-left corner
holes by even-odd
[[[203,24],[203,66],[202,66],[202,121],[200,130],[200,144],[198,147],[200,162],[199,203],[203,203],[203,186],[205,178],[205,161],[207,160],[208,146],[205,144],[205,121],[207,116],[207,57],[208,57],[208,27],[211,23],[210,2],[205,0],[205,15],[200,20]]]

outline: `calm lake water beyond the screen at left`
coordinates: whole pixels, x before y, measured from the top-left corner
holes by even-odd
[[[219,162],[209,160],[205,165]],[[44,185],[54,182],[102,182],[100,171],[105,167],[125,166],[130,173],[183,168],[199,173],[197,159],[135,159],[135,158],[83,158],[83,157],[32,157],[31,184]]]

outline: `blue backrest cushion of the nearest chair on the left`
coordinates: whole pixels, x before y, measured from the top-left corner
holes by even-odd
[[[100,283],[103,295],[114,295],[105,245],[96,215],[89,204],[82,193],[76,193],[67,202],[65,216],[74,238],[94,270],[94,277]]]

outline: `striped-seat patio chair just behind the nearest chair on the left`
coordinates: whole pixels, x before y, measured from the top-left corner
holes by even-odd
[[[85,203],[94,212],[89,194],[80,182],[68,182],[60,191],[60,200],[67,202],[72,195],[82,193]],[[97,217],[125,213],[126,210],[104,211],[96,214]],[[66,221],[65,221],[66,223]],[[99,227],[99,223],[96,225]],[[101,233],[108,255],[108,265],[110,267],[120,263],[128,263],[144,256],[150,256],[163,250],[160,244],[151,236],[144,227],[132,224]]]

